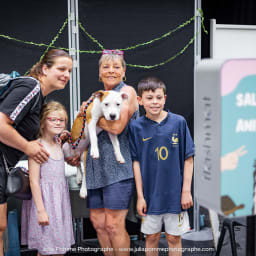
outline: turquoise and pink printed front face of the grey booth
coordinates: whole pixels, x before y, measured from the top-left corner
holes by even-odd
[[[221,71],[221,208],[255,214],[256,61],[233,60]],[[240,209],[240,210],[239,210]]]

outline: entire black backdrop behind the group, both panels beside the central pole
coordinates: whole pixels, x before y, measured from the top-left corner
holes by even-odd
[[[191,0],[160,1],[102,1],[79,2],[79,20],[86,30],[107,49],[125,48],[145,42],[174,29],[194,15]],[[18,1],[1,3],[0,34],[18,39],[50,43],[66,19],[66,0]],[[179,52],[193,37],[194,24],[151,45],[125,52],[127,63],[153,65]],[[56,46],[68,47],[68,27]],[[80,30],[80,49],[99,50]],[[45,47],[25,45],[0,38],[0,73],[17,70],[24,74],[42,55]],[[194,47],[168,64],[144,70],[127,68],[127,84],[137,87],[138,81],[149,75],[158,76],[167,85],[166,107],[183,115],[193,134],[193,66]],[[102,88],[98,82],[100,54],[81,54],[81,100]],[[60,100],[69,111],[69,87],[54,92],[49,98]]]

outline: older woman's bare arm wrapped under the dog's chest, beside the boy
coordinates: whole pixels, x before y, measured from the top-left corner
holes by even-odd
[[[108,121],[104,117],[101,117],[97,124],[103,130],[116,135],[120,134],[124,130],[130,118],[138,109],[137,95],[134,88],[131,86],[125,86],[122,88],[121,92],[127,93],[129,98],[122,104],[119,120]]]

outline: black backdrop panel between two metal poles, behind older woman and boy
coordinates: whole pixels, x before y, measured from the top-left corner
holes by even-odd
[[[110,3],[109,3],[110,2]],[[125,48],[151,40],[175,28],[192,17],[194,4],[183,1],[80,1],[79,19],[87,31],[105,48]],[[170,38],[152,45],[125,52],[127,63],[152,65],[179,52],[193,36],[193,23]],[[98,49],[80,34],[81,49]],[[137,87],[138,81],[149,75],[158,76],[167,85],[167,108],[182,114],[193,126],[193,45],[184,55],[153,70],[128,67],[127,84]],[[99,55],[81,55],[81,95],[86,98],[102,88],[98,79]]]

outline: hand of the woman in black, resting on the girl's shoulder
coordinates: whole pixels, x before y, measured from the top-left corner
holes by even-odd
[[[49,153],[43,145],[37,141],[32,140],[27,142],[24,153],[34,159],[38,164],[42,164],[48,160]]]

